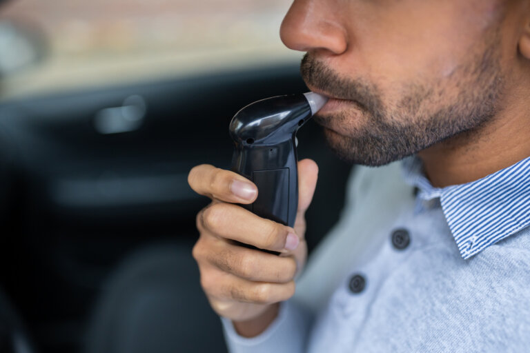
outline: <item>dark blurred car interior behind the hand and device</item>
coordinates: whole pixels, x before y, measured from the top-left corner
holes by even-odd
[[[288,61],[0,99],[0,352],[226,352],[191,256],[209,199],[188,172],[230,168],[240,108],[306,91]],[[320,168],[311,253],[351,165],[317,124],[297,138],[299,159]],[[155,279],[170,296],[150,292]],[[159,310],[142,311],[149,300]]]

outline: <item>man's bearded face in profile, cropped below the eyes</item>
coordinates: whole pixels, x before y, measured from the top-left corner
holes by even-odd
[[[307,52],[308,87],[336,98],[315,117],[331,147],[382,165],[495,119],[516,2],[295,0],[281,35]]]

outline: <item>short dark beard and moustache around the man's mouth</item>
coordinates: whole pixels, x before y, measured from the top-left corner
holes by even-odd
[[[377,85],[340,77],[307,53],[300,70],[307,85],[343,99],[342,109],[317,113],[313,119],[324,127],[328,145],[341,159],[370,166],[397,161],[458,135],[472,138],[498,113],[502,92],[500,36],[487,39],[450,77],[405,83],[397,102],[388,104]]]

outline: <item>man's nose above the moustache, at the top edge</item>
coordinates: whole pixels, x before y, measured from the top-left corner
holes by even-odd
[[[293,50],[309,52],[327,50],[331,54],[342,54],[348,49],[345,28],[335,16],[335,1],[295,0],[287,12],[280,37]]]

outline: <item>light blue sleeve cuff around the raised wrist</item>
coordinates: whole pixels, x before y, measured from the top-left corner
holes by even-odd
[[[221,321],[230,353],[303,353],[312,315],[293,299],[285,301],[280,303],[275,321],[262,334],[250,339],[239,336],[230,319],[222,317]]]

